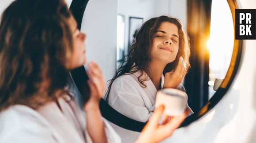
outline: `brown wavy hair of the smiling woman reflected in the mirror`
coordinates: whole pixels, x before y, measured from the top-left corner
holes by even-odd
[[[123,58],[118,70],[116,71],[114,77],[109,80],[108,91],[106,92],[105,101],[109,102],[109,92],[113,81],[124,74],[132,74],[140,71],[140,76],[138,81],[142,84],[142,87],[147,87],[143,81],[149,80],[148,78],[140,78],[143,76],[144,71],[150,69],[149,62],[151,61],[151,48],[153,45],[154,35],[158,28],[161,26],[162,22],[170,22],[178,27],[179,33],[179,51],[177,53],[176,59],[166,65],[163,75],[165,73],[175,70],[178,65],[178,58],[183,57],[184,65],[188,71],[190,68],[189,56],[190,56],[190,44],[187,33],[184,31],[181,21],[177,18],[172,18],[167,15],[162,15],[160,17],[151,18],[145,22],[136,33],[135,41],[131,44],[128,55]],[[134,65],[135,63],[135,65]]]

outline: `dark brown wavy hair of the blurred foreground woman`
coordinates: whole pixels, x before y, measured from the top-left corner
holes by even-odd
[[[15,0],[6,8],[0,23],[0,111],[15,104],[37,109],[67,92],[70,16],[64,0]]]

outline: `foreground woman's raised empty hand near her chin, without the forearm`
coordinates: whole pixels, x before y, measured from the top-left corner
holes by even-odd
[[[90,99],[84,106],[85,111],[92,106],[98,107],[98,103],[105,92],[104,77],[98,65],[95,62],[90,62],[88,67],[87,74],[90,77],[90,81],[87,81],[87,83],[90,88]]]

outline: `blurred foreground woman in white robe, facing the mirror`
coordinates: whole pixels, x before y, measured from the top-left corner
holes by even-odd
[[[69,71],[86,62],[85,39],[63,0],[15,0],[4,11],[0,143],[120,143],[99,111],[105,82],[97,64],[88,64],[90,91],[83,95],[90,93],[90,97],[84,98],[88,99],[85,112],[65,88]],[[156,143],[171,136],[187,114],[158,125],[163,109],[155,111],[137,143]],[[152,134],[159,135],[153,138]]]

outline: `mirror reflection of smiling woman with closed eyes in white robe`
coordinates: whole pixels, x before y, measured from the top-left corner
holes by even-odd
[[[151,18],[137,32],[127,60],[110,81],[106,102],[127,117],[148,121],[158,90],[185,92],[181,81],[190,67],[189,55],[188,37],[177,18]]]

